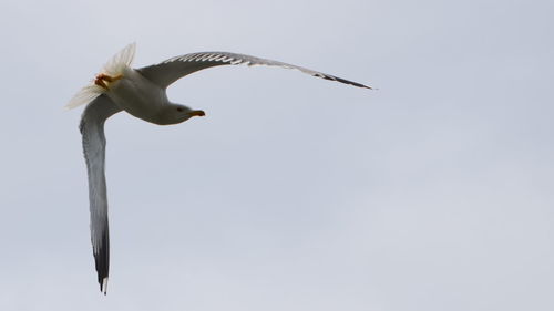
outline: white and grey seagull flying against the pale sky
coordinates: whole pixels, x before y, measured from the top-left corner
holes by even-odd
[[[122,111],[158,125],[178,124],[193,116],[204,116],[202,110],[176,104],[167,99],[166,89],[173,82],[199,70],[218,65],[269,65],[295,69],[312,76],[363,89],[361,83],[278,61],[228,52],[201,52],[175,56],[158,64],[132,69],[135,43],[115,54],[95,79],[69,102],[66,108],[86,104],[79,129],[89,176],[91,241],[100,291],[106,294],[110,270],[110,235],[107,229],[107,196],[104,175],[105,121]]]

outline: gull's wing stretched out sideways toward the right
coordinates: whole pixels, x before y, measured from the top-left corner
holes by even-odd
[[[239,64],[247,64],[249,66],[269,65],[269,66],[280,66],[286,69],[296,69],[312,76],[337,81],[355,85],[358,87],[372,89],[361,83],[348,81],[335,75],[321,73],[310,69],[287,64],[278,61],[259,59],[250,55],[235,54],[228,52],[202,52],[202,53],[185,54],[168,59],[155,65],[141,68],[138,69],[138,72],[146,79],[157,84],[158,86],[165,89],[173,82],[177,81],[178,79],[203,69],[207,69],[211,66],[218,66],[218,65],[239,65]]]

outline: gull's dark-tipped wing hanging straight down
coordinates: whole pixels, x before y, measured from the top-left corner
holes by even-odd
[[[106,95],[94,99],[84,110],[79,128],[83,136],[83,151],[89,173],[91,209],[91,240],[100,290],[106,292],[110,269],[110,235],[107,230],[107,197],[104,175],[104,122],[120,112]]]

